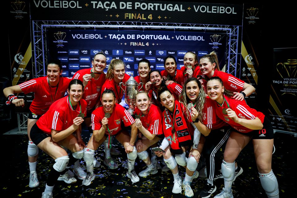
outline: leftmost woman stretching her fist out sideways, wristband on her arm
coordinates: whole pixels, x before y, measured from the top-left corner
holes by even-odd
[[[56,100],[64,97],[68,84],[71,81],[62,77],[62,65],[60,60],[51,60],[47,66],[47,76],[35,78],[19,85],[7,87],[3,90],[4,95],[8,98],[6,104],[14,104],[15,106],[24,106],[24,99],[18,99],[14,93],[30,93],[34,92],[34,99],[30,105],[30,113],[28,115],[28,161],[30,168],[29,187],[37,187],[39,181],[37,179],[36,165],[38,157],[38,148],[30,138],[32,126],[37,122],[41,115],[49,109],[49,106]],[[72,173],[73,174],[73,173]],[[74,176],[74,175],[71,175]]]

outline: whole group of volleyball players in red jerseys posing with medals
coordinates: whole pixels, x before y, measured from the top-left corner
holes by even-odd
[[[102,143],[104,164],[110,169],[118,168],[111,157],[120,154],[112,147],[115,137],[127,153],[127,177],[133,183],[139,182],[139,176],[157,174],[161,168],[157,156],[163,157],[162,170],[173,174],[172,192],[183,191],[192,197],[191,183],[199,175],[196,169],[203,155],[207,182],[199,196],[210,197],[217,190],[214,180],[224,178],[222,191],[214,197],[230,198],[232,183],[243,172],[235,160],[252,140],[261,185],[267,197],[279,197],[278,182],[271,169],[271,123],[244,100],[255,88],[220,71],[215,52],[200,60],[195,53],[187,52],[183,62],[184,67],[179,70],[176,59],[169,55],[164,59],[164,71],[151,71],[150,62],[140,60],[135,80],[143,87],[136,94],[135,116],[119,104],[124,95],[119,84],[130,78],[125,65],[120,59],[112,59],[105,75],[103,52],[94,56],[92,68],[77,71],[72,80],[61,76],[61,62],[53,60],[48,62],[47,76],[5,88],[7,104],[15,106],[24,106],[24,100],[15,93],[35,94],[28,117],[29,187],[39,185],[39,149],[55,161],[42,197],[53,196],[57,180],[75,183],[76,176],[83,185],[92,185],[96,179],[94,167],[101,166],[94,153]],[[83,122],[91,134],[87,144],[81,138]],[[221,148],[223,161],[216,157]],[[134,169],[137,156],[146,164],[139,173]],[[86,172],[79,159],[84,159]],[[73,172],[69,170],[71,165]],[[186,169],[184,178],[178,167]]]

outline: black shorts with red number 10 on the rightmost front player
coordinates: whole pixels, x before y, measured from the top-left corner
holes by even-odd
[[[270,120],[266,118],[266,116],[264,118],[262,129],[254,130],[248,133],[241,133],[239,131],[236,131],[236,132],[247,136],[253,136],[252,137],[253,140],[270,140],[270,139],[273,139],[273,136],[274,136],[272,124]]]

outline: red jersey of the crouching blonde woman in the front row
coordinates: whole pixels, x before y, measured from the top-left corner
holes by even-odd
[[[162,131],[162,112],[156,105],[151,104],[149,112],[143,116],[141,111],[135,107],[136,115],[142,116],[140,118],[142,126],[153,135],[161,135]]]

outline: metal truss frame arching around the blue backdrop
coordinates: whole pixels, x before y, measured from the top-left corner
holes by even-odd
[[[226,44],[226,72],[236,76],[238,62],[239,28],[241,26],[230,25],[207,25],[207,24],[180,24],[180,23],[157,23],[157,22],[127,22],[127,21],[32,21],[33,76],[35,78],[45,76],[46,52],[46,28],[67,27],[67,28],[116,28],[120,29],[174,29],[174,30],[203,30],[222,31],[228,35]],[[240,57],[240,56],[239,56]],[[27,128],[28,114],[18,113],[19,131]]]

